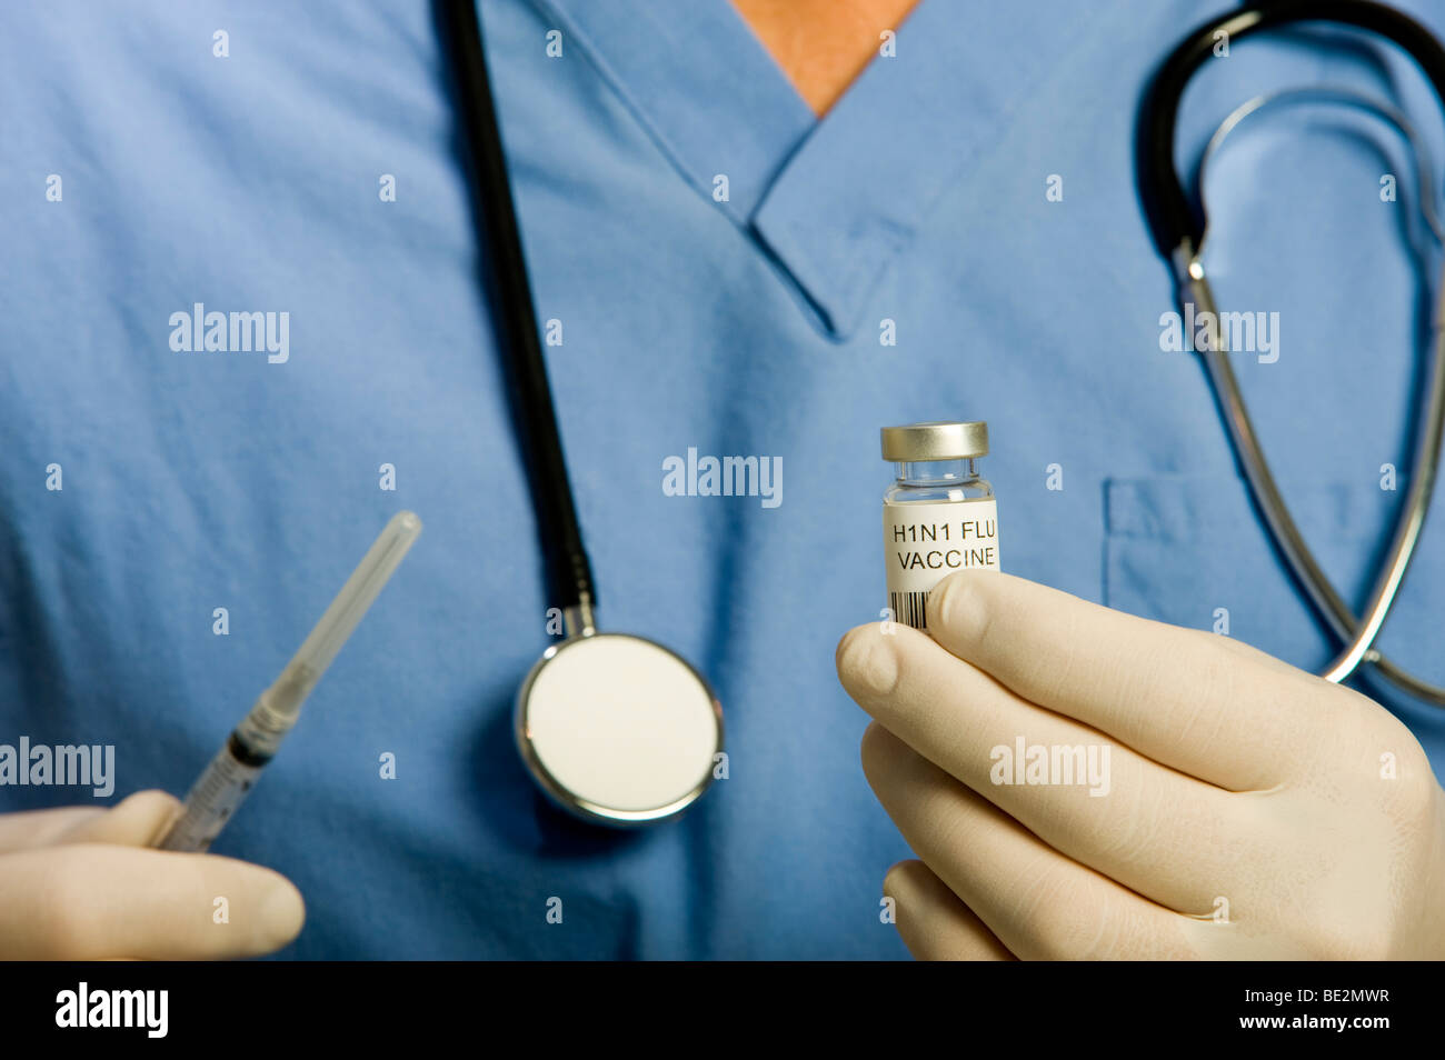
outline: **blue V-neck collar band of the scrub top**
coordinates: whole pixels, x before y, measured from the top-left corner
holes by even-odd
[[[718,208],[767,248],[835,339],[887,315],[870,295],[1001,134],[1019,82],[998,77],[997,51],[1004,62],[1010,48],[1035,59],[1036,27],[1019,26],[1000,49],[971,35],[957,7],[920,0],[896,30],[896,56],[874,55],[819,120],[730,0],[533,3],[699,194],[714,199],[727,176]]]

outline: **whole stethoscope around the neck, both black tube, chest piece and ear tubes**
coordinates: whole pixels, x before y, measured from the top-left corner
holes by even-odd
[[[542,358],[475,0],[441,0],[441,9],[444,30],[452,43],[461,121],[470,146],[474,222],[490,251],[499,348],[509,368],[514,426],[527,465],[546,581],[552,602],[562,612],[565,634],[561,643],[546,648],[517,693],[517,748],[542,791],[575,816],[621,826],[666,820],[707,790],[720,765],[721,706],[708,682],[678,654],[642,637],[597,628],[597,592]],[[1178,276],[1181,299],[1204,312],[1215,312],[1202,264],[1207,221],[1202,196],[1196,207],[1173,163],[1179,100],[1194,72],[1214,53],[1220,33],[1238,40],[1260,30],[1314,20],[1358,26],[1396,42],[1416,59],[1445,101],[1445,51],[1422,26],[1383,4],[1280,0],[1209,22],[1191,33],[1163,64],[1144,98],[1139,124],[1139,183],[1155,241]],[[1276,101],[1280,97],[1256,100],[1231,114],[1211,142],[1207,160],[1234,127]],[[1350,101],[1393,121],[1413,146],[1415,137],[1397,114],[1355,97]],[[1423,153],[1416,153],[1423,175]],[[1422,181],[1422,189],[1431,186]],[[1432,208],[1426,211],[1438,228]],[[1435,355],[1420,407],[1409,492],[1363,618],[1354,617],[1295,526],[1264,459],[1224,344],[1208,344],[1204,357],[1231,443],[1266,526],[1312,605],[1345,646],[1322,676],[1341,682],[1361,663],[1373,663],[1402,689],[1445,705],[1445,689],[1400,670],[1374,647],[1419,540],[1435,482],[1445,425],[1441,312],[1445,303],[1438,308]]]

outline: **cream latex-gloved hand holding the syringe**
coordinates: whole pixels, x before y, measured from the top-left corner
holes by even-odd
[[[194,960],[280,949],[305,920],[301,892],[267,868],[144,849],[178,806],[139,791],[111,809],[0,814],[0,959]],[[230,923],[215,923],[215,898]]]

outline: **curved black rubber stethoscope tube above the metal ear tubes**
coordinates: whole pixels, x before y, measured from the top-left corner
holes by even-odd
[[[1435,85],[1436,95],[1445,101],[1445,49],[1423,26],[1386,4],[1370,0],[1274,0],[1211,19],[1192,30],[1163,61],[1139,113],[1139,196],[1155,244],[1166,259],[1183,246],[1198,250],[1205,228],[1204,209],[1185,191],[1173,156],[1175,121],[1189,79],[1214,55],[1215,33],[1228,33],[1233,43],[1260,30],[1299,22],[1342,23],[1389,38],[1415,58]]]

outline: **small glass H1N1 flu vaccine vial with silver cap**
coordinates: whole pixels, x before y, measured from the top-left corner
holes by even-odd
[[[893,621],[928,628],[928,594],[955,570],[998,570],[998,504],[978,474],[987,423],[883,427],[894,482],[883,494],[883,557]]]

